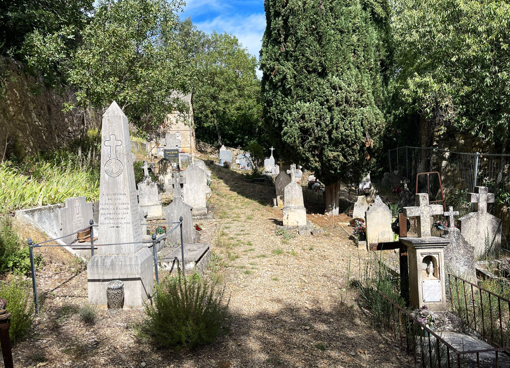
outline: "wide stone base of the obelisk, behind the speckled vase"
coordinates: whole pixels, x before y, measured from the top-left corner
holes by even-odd
[[[124,282],[124,306],[140,307],[154,286],[152,252],[142,248],[134,254],[97,254],[87,265],[89,303],[107,305],[106,284]]]

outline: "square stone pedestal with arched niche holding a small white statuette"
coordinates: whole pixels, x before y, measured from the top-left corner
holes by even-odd
[[[409,260],[409,299],[412,307],[446,311],[444,238],[400,238]]]

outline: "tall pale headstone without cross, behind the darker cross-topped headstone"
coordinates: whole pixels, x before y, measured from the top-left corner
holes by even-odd
[[[206,216],[207,176],[205,171],[203,171],[198,164],[193,162],[183,171],[183,179],[186,180],[183,188],[184,201],[193,207],[193,216]]]

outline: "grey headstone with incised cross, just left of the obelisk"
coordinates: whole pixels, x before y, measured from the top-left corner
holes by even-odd
[[[90,226],[93,219],[92,203],[87,203],[85,197],[67,198],[65,207],[58,209],[61,236]],[[62,239],[65,244],[71,244],[78,240],[77,234],[66,236]]]

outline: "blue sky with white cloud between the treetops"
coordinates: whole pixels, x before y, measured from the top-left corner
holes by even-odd
[[[191,17],[199,30],[235,35],[259,60],[266,28],[264,0],[187,0],[181,19]]]

